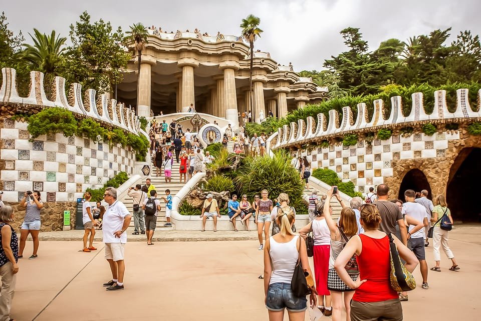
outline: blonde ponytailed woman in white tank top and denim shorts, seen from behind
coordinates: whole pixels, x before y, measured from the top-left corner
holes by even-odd
[[[307,299],[292,292],[291,280],[299,258],[302,268],[312,275],[306,243],[292,231],[295,222],[292,208],[278,210],[276,221],[281,231],[267,239],[264,248],[264,290],[269,320],[282,320],[286,308],[290,320],[304,320]],[[311,293],[311,305],[316,301],[316,295]]]

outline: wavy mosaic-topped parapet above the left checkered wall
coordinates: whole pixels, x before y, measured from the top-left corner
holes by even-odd
[[[126,108],[123,103],[118,103],[115,99],[109,99],[109,95],[106,93],[96,96],[94,89],[87,89],[82,93],[82,85],[73,83],[70,85],[67,96],[63,77],[55,77],[52,100],[47,99],[44,88],[44,74],[32,71],[30,73],[30,93],[28,97],[20,97],[17,92],[16,70],[2,68],[0,103],[13,105],[22,110],[28,109],[29,106],[62,107],[108,125],[135,134],[146,135],[140,129],[139,117],[135,115],[135,111]]]

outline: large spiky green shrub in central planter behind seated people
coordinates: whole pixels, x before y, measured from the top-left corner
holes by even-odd
[[[287,193],[292,204],[299,202],[304,190],[299,171],[291,166],[291,159],[285,151],[274,152],[272,158],[249,158],[244,167],[239,169],[239,176],[234,183],[238,194],[247,194],[250,199],[266,189],[270,198]]]

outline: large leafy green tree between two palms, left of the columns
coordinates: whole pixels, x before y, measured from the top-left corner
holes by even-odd
[[[111,92],[112,85],[122,81],[122,69],[130,59],[123,48],[122,29],[113,32],[110,22],[102,19],[91,23],[90,15],[84,12],[70,25],[70,40],[64,66],[68,80],[100,93]]]

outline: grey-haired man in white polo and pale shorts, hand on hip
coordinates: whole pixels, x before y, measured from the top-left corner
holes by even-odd
[[[103,285],[107,291],[124,289],[124,246],[127,243],[125,232],[132,215],[122,202],[117,200],[117,190],[113,187],[105,189],[104,201],[109,205],[102,221],[105,258],[109,262],[112,279]]]

